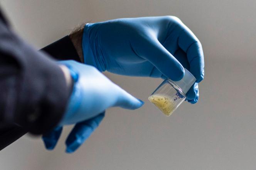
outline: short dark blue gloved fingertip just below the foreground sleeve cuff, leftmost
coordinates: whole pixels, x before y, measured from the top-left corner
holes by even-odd
[[[44,134],[42,140],[44,141],[45,148],[48,150],[54,149],[56,146],[59,137],[61,136],[62,126],[55,127],[53,130]]]

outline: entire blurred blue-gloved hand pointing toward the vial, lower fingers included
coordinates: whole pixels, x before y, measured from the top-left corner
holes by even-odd
[[[69,68],[75,83],[59,127],[43,135],[47,149],[53,149],[56,145],[62,125],[77,123],[66,140],[66,152],[71,153],[98,127],[107,108],[118,106],[137,109],[144,104],[111,82],[93,66],[71,60],[60,61],[59,64]]]

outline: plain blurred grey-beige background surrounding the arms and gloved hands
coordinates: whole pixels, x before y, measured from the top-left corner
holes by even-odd
[[[175,15],[201,41],[205,79],[200,99],[165,117],[150,102],[160,79],[106,75],[145,105],[108,109],[73,154],[66,127],[56,149],[24,136],[0,152],[3,170],[210,170],[256,168],[256,1],[1,0],[22,38],[42,48],[84,21]]]

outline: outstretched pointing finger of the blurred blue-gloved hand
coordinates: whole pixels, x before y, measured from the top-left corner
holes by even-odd
[[[117,100],[116,100],[114,106],[122,107],[124,109],[134,110],[134,109],[140,108],[144,104],[143,101],[133,97],[131,94],[126,92],[121,87],[118,87],[118,88],[119,88],[118,89],[119,96],[117,97]]]

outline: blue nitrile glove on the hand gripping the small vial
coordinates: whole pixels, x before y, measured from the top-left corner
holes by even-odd
[[[202,45],[177,17],[88,23],[84,27],[82,47],[84,63],[99,71],[177,81],[184,76],[184,66],[197,83],[204,78]],[[191,103],[198,100],[197,83],[187,92]]]

